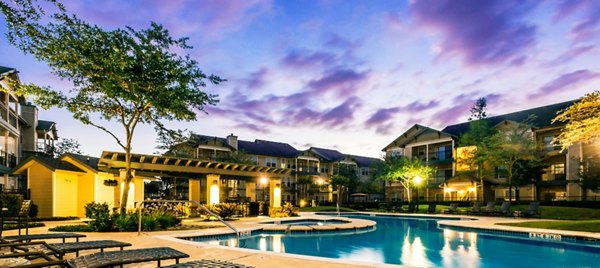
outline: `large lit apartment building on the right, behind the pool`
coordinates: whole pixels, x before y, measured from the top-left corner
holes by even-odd
[[[542,176],[530,178],[531,183],[520,186],[518,193],[513,188],[512,194],[509,194],[506,172],[502,172],[502,167],[496,167],[494,174],[485,174],[483,184],[472,176],[460,175],[463,174],[460,171],[474,168],[460,161],[461,156],[473,148],[458,146],[461,136],[469,130],[469,122],[449,125],[441,130],[414,125],[383,151],[386,155],[419,157],[437,168],[437,174],[435,178],[429,178],[423,196],[428,200],[500,200],[509,196],[514,199],[517,194],[523,200],[578,200],[584,194],[595,196],[599,193],[582,192],[577,174],[582,162],[599,157],[600,145],[575,144],[561,151],[559,146],[552,144],[562,128],[560,123],[552,123],[552,119],[573,103],[556,103],[487,119],[491,126],[501,132],[527,122],[527,135],[534,139],[537,149],[544,156],[546,168]],[[402,187],[394,183],[386,187],[388,198],[403,197],[404,192]]]

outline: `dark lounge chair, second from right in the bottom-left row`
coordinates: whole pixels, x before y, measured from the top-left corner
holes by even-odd
[[[85,256],[76,257],[68,260],[66,264],[73,268],[96,268],[96,267],[112,267],[122,266],[130,263],[141,263],[156,261],[157,267],[160,267],[162,260],[175,260],[179,263],[179,259],[190,257],[188,254],[174,250],[172,248],[143,248],[130,249],[123,251],[105,251],[92,253]]]

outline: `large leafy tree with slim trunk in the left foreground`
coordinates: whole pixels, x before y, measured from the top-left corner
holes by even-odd
[[[169,133],[163,120],[192,121],[195,110],[217,103],[216,95],[200,89],[206,80],[198,63],[173,51],[190,49],[187,38],[175,39],[163,26],[107,31],[64,9],[42,19],[44,11],[34,0],[19,0],[12,9],[2,5],[11,44],[44,61],[61,79],[72,82],[69,94],[34,84],[22,84],[18,94],[32,95],[42,108],[66,108],[86,125],[109,134],[125,151],[125,186],[121,212],[125,212],[131,174],[131,150],[139,124]],[[49,22],[46,22],[49,21]],[[99,118],[95,118],[99,117]],[[116,121],[111,130],[101,121]]]

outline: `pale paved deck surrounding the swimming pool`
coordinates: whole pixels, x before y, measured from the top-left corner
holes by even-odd
[[[387,213],[365,213],[369,214],[380,214],[386,215]],[[523,221],[535,221],[539,219],[522,219],[522,218],[500,218],[500,217],[477,217],[477,216],[465,216],[465,215],[441,215],[441,214],[398,214],[392,213],[387,215],[393,216],[423,216],[423,217],[435,217],[435,218],[465,218],[465,219],[476,219],[476,220],[441,220],[439,224],[453,226],[453,227],[466,227],[466,228],[484,228],[493,230],[504,230],[504,231],[517,231],[517,232],[536,232],[536,233],[549,233],[549,234],[560,234],[568,236],[581,236],[589,237],[594,239],[600,239],[598,233],[588,232],[574,232],[574,231],[560,231],[560,230],[546,230],[546,229],[534,229],[534,228],[523,228],[523,227],[512,227],[504,225],[496,225],[496,223],[508,223],[508,222],[523,222]],[[301,213],[300,218],[331,218],[333,215],[316,215],[314,213]],[[343,215],[342,215],[343,216]],[[261,224],[262,221],[272,221],[270,218],[244,218],[237,221],[230,221],[240,231],[259,230],[265,227],[265,224]],[[345,223],[345,228],[364,228],[365,225],[369,225],[370,221],[353,221],[352,223]],[[45,222],[46,227],[38,227],[30,229],[30,233],[46,233],[48,228],[57,225],[66,224],[80,224],[80,221],[62,221],[62,222]],[[179,251],[189,254],[191,257],[182,259],[182,262],[199,260],[199,259],[220,259],[225,261],[231,261],[244,265],[251,265],[254,267],[278,267],[278,268],[297,268],[297,267],[399,267],[398,265],[386,265],[386,264],[371,264],[368,262],[355,262],[355,261],[344,261],[338,259],[328,259],[321,257],[303,256],[297,254],[284,254],[265,252],[251,249],[239,249],[239,248],[228,248],[224,246],[208,245],[206,243],[197,243],[187,240],[178,239],[176,237],[186,236],[201,236],[201,235],[218,235],[231,233],[227,227],[222,226],[219,222],[205,222],[198,220],[186,220],[184,225],[196,225],[196,226],[219,226],[209,229],[197,229],[197,230],[180,230],[180,231],[159,231],[159,232],[142,232],[140,236],[136,232],[127,233],[86,233],[87,237],[81,241],[88,240],[100,240],[100,239],[111,239],[129,242],[133,244],[133,248],[148,248],[148,247],[172,247]],[[320,231],[325,229],[331,229],[331,227],[324,227]],[[15,235],[16,230],[10,230],[3,232],[3,235]],[[54,242],[54,241],[50,241]],[[58,241],[56,241],[58,242]],[[96,251],[82,251],[81,255]],[[69,254],[66,258],[74,257],[74,254]],[[163,261],[163,265],[172,264],[174,261]],[[144,263],[136,265],[128,265],[126,267],[155,267],[156,263]]]

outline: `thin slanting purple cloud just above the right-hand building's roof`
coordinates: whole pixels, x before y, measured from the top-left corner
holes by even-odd
[[[594,73],[588,70],[578,70],[575,72],[566,73],[548,82],[538,89],[538,92],[530,94],[528,97],[531,99],[537,99],[543,96],[560,93],[561,91],[575,88],[586,81],[596,79],[598,77],[600,77],[600,73]]]

